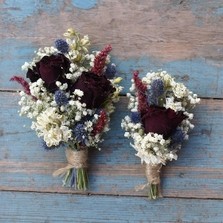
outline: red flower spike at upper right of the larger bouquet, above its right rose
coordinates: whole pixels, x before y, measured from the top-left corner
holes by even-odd
[[[108,54],[112,50],[111,45],[106,46],[94,59],[94,67],[92,68],[91,72],[101,75],[103,69],[105,67],[105,62]]]

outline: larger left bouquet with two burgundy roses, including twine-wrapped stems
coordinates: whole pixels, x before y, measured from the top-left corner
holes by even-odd
[[[73,29],[57,39],[55,46],[40,48],[22,69],[26,77],[14,76],[20,92],[20,115],[32,120],[31,128],[52,150],[66,146],[67,166],[54,172],[64,176],[64,185],[88,188],[88,150],[98,148],[109,130],[110,114],[119,99],[121,78],[114,78],[111,46],[89,52],[88,36]]]

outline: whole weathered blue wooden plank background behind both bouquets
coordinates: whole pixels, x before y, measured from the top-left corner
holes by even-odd
[[[102,151],[90,153],[90,190],[61,186],[63,150],[44,151],[18,116],[12,75],[34,50],[74,27],[110,43],[125,89]],[[123,137],[133,69],[167,70],[201,98],[190,141],[162,172],[163,198],[134,187],[143,167]],[[222,0],[0,0],[0,222],[223,222]]]

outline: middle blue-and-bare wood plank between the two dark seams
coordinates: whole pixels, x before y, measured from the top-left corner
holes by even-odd
[[[61,187],[60,179],[52,177],[54,170],[65,165],[64,151],[46,152],[41,148],[30,122],[17,114],[18,99],[16,93],[0,94],[0,189],[77,193]],[[146,191],[134,189],[146,182],[144,169],[120,127],[126,107],[123,97],[102,151],[90,152],[90,193],[146,196]],[[190,141],[177,161],[163,167],[164,196],[223,198],[222,117],[221,100],[202,100],[195,110],[196,126]]]

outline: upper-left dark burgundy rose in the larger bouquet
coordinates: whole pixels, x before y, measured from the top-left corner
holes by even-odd
[[[36,63],[36,67],[32,70],[28,70],[26,76],[31,82],[35,82],[39,78],[42,78],[46,88],[54,92],[57,90],[56,81],[70,83],[64,75],[69,72],[69,68],[70,61],[63,54],[45,56]]]

